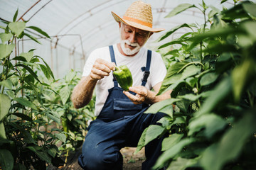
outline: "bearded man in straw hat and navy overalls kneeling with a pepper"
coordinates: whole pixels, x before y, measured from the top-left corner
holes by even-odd
[[[112,12],[119,24],[120,42],[94,50],[88,57],[82,78],[72,94],[75,108],[90,102],[96,91],[95,116],[88,127],[78,163],[83,169],[122,169],[122,147],[137,147],[145,128],[154,125],[164,113],[144,114],[150,104],[170,98],[171,91],[156,96],[166,75],[161,55],[146,50],[144,44],[153,33],[151,5],[134,1],[122,18]],[[112,75],[115,66],[127,65],[132,72],[133,86],[121,89]],[[153,89],[153,90],[152,90]],[[161,141],[145,147],[149,170],[161,154]]]

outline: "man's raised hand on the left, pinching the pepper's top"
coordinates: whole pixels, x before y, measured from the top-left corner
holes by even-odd
[[[93,80],[103,79],[105,76],[109,76],[111,70],[114,71],[114,63],[107,62],[106,60],[97,59],[92,66],[90,77]]]

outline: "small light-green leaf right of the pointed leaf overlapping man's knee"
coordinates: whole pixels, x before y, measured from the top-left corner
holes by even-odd
[[[167,149],[170,149],[174,145],[176,145],[181,138],[183,137],[183,134],[171,134],[169,137],[164,138],[162,142],[162,151],[166,151]]]

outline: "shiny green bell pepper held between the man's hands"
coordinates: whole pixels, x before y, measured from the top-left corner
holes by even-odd
[[[128,67],[126,65],[115,67],[113,75],[122,89],[129,91],[129,87],[132,86],[132,73],[129,71]]]

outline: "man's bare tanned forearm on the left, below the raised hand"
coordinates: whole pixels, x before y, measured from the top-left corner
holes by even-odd
[[[82,108],[90,102],[96,83],[97,80],[91,79],[90,76],[82,77],[78,85],[73,89],[71,96],[75,108]]]

